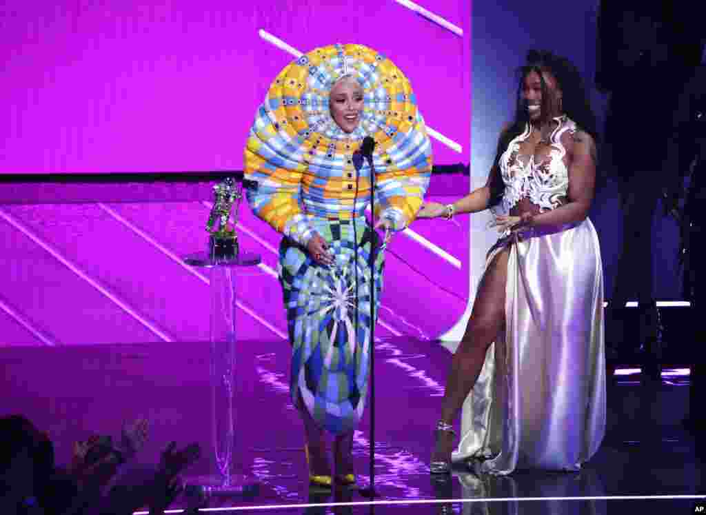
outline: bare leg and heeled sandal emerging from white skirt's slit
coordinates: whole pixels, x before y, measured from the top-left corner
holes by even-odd
[[[441,421],[453,424],[463,402],[476,383],[486,351],[505,325],[505,285],[508,277],[508,248],[498,252],[486,269],[478,288],[466,332],[451,360],[441,404]],[[438,431],[431,461],[449,463],[453,434]]]

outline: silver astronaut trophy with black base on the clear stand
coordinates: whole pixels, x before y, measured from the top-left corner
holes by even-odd
[[[227,177],[213,187],[215,202],[208,216],[206,230],[208,238],[208,255],[212,261],[234,261],[238,259],[238,235],[235,224],[238,222],[238,206],[243,198],[240,187],[236,187],[234,179]],[[230,213],[235,203],[234,223],[229,225]]]

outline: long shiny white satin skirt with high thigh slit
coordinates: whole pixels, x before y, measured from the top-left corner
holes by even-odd
[[[505,329],[466,399],[453,461],[478,472],[579,470],[606,427],[603,268],[591,221],[501,239]]]

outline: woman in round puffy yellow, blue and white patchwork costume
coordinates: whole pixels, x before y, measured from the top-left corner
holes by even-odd
[[[375,141],[371,168],[354,153]],[[359,170],[357,170],[357,167]],[[431,174],[431,142],[409,81],[363,45],[313,49],[275,78],[245,149],[247,199],[284,235],[279,276],[292,344],[290,391],[304,420],[310,483],[354,483],[353,431],[370,369],[386,235],[412,223]],[[371,256],[372,253],[372,256]],[[371,277],[369,258],[374,263]],[[325,432],[335,436],[332,474]]]

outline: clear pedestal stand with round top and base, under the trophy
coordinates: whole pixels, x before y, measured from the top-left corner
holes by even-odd
[[[215,474],[187,478],[188,485],[203,488],[205,495],[254,496],[258,483],[244,473],[233,473],[239,459],[235,376],[236,282],[238,268],[256,266],[260,256],[241,252],[234,261],[213,261],[206,252],[184,258],[188,265],[210,270],[210,398],[213,422]],[[243,470],[241,470],[242,472]]]

